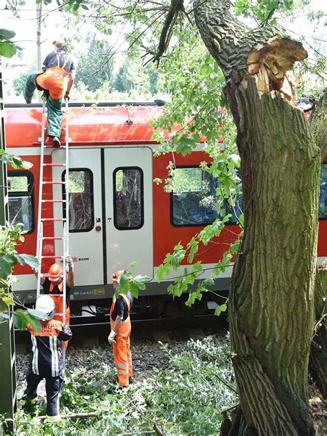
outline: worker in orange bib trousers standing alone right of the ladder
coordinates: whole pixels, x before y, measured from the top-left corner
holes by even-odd
[[[119,277],[122,274],[123,271],[117,271],[111,276],[114,289],[117,289]],[[132,381],[132,355],[130,353],[130,309],[132,302],[132,294],[128,291],[127,295],[119,294],[117,299],[114,295],[110,308],[111,331],[108,341],[109,344],[112,344],[120,386],[128,386]]]

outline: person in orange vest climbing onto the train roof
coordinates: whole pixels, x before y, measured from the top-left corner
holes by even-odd
[[[53,41],[53,45],[54,52],[50,52],[43,61],[43,72],[33,71],[28,75],[23,97],[26,103],[31,103],[34,90],[43,90],[48,107],[48,137],[52,137],[54,147],[60,147],[63,118],[61,103],[63,96],[65,100],[69,100],[75,65],[72,56],[66,52],[66,43],[63,40]]]

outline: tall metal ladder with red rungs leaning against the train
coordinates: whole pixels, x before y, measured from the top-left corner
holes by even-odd
[[[56,315],[62,316],[62,322],[63,324],[66,324],[66,256],[68,255],[68,247],[69,247],[69,189],[68,189],[68,143],[69,143],[69,132],[68,132],[68,99],[65,101],[65,119],[66,119],[66,135],[65,135],[65,145],[59,147],[53,147],[50,144],[45,144],[45,133],[46,133],[46,100],[43,100],[43,107],[42,107],[42,133],[41,137],[39,138],[39,142],[41,143],[41,155],[40,155],[40,179],[39,179],[39,211],[38,211],[38,217],[37,217],[37,259],[39,259],[39,270],[37,272],[37,298],[41,295],[41,277],[49,277],[50,275],[48,273],[42,273],[41,267],[42,267],[42,260],[43,259],[61,259],[63,261],[63,293],[61,295],[61,298],[63,299],[63,311],[61,313],[56,313]],[[48,164],[44,163],[44,150],[46,148],[52,148],[52,150],[56,149],[65,149],[65,161],[61,163],[56,164]],[[54,166],[62,166],[63,168],[66,168],[65,173],[65,181],[52,181],[52,175],[50,180],[46,180],[43,177],[43,169],[45,167],[54,167]],[[63,199],[46,199],[44,197],[43,192],[43,186],[50,185],[63,185],[64,186],[64,192],[66,195],[63,196]],[[55,203],[62,203],[66,204],[66,217],[44,217],[42,215],[43,212],[47,211],[46,208],[43,208],[42,206],[46,206],[46,204],[52,205],[52,211],[54,210],[53,206]],[[45,236],[43,235],[43,225],[44,224],[54,224],[55,221],[62,221],[63,222],[63,232],[62,236]],[[56,255],[56,252],[54,251],[54,255],[43,255],[43,241],[62,241],[62,255]],[[56,245],[56,244],[55,244]],[[65,357],[65,346],[63,346],[63,358]]]

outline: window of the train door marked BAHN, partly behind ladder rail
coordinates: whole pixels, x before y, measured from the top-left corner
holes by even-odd
[[[66,172],[63,172],[62,180]],[[95,224],[93,213],[93,175],[86,168],[69,170],[69,231],[89,232]],[[63,199],[65,198],[63,188]],[[66,217],[66,204],[63,204],[63,217]]]

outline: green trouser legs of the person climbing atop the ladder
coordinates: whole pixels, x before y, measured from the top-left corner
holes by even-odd
[[[25,89],[23,90],[23,97],[26,103],[32,101],[34,90],[39,89],[46,92],[47,95],[47,108],[48,108],[48,136],[60,138],[61,123],[63,119],[63,112],[61,110],[61,103],[63,98],[54,100],[50,97],[48,90],[41,88],[37,85],[35,79],[42,73],[39,71],[32,71],[26,80]]]

